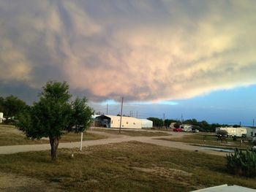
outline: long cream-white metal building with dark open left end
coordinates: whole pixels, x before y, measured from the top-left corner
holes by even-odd
[[[120,116],[114,115],[100,115],[95,118],[99,123],[97,126],[104,126],[108,128],[119,128]],[[121,128],[141,128],[141,120],[137,118],[124,117],[121,118]]]

